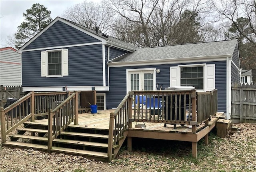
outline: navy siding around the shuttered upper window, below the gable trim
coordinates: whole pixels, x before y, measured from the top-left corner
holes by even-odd
[[[102,44],[66,49],[69,74],[53,78],[41,77],[41,51],[22,52],[22,86],[103,86]]]

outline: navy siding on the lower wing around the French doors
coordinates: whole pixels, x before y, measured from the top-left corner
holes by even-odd
[[[106,107],[116,108],[126,95],[126,69],[160,69],[160,73],[156,73],[156,84],[159,83],[159,86],[163,84],[162,90],[164,90],[170,87],[170,67],[185,64],[193,63],[110,68],[110,88],[109,92],[106,93]],[[226,61],[206,62],[206,64],[215,64],[215,88],[218,89],[218,111],[226,112]]]

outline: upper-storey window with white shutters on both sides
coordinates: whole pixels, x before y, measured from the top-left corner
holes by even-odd
[[[68,49],[42,51],[41,76],[68,76]]]

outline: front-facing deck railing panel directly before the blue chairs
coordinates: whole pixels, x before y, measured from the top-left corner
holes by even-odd
[[[135,122],[197,124],[196,90],[134,91],[133,98]]]

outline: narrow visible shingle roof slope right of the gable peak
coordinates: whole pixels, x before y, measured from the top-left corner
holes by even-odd
[[[66,20],[65,18],[62,18],[63,20]],[[134,46],[134,45],[132,45],[132,44],[130,44],[130,43],[127,43],[127,42],[124,42],[124,41],[122,41],[122,40],[119,40],[119,39],[117,39],[117,38],[114,38],[114,37],[112,37],[112,36],[108,36],[108,35],[106,35],[106,34],[103,34],[103,33],[101,33],[101,32],[98,32],[98,33],[96,33],[96,30],[92,30],[92,29],[90,29],[90,28],[86,28],[86,27],[84,27],[84,26],[82,26],[82,25],[80,25],[80,24],[77,24],[77,23],[75,23],[75,22],[72,22],[72,21],[69,21],[69,20],[66,20],[67,22],[70,22],[70,23],[72,23],[72,24],[74,24],[74,25],[76,25],[76,26],[78,26],[78,27],[80,27],[80,28],[82,28],[82,29],[84,29],[84,30],[86,30],[86,31],[88,31],[88,32],[91,32],[91,33],[93,33],[93,34],[95,34],[95,35],[97,35],[97,36],[100,36],[101,38],[103,38],[103,39],[105,39],[105,40],[107,40],[107,41],[111,41],[111,42],[114,42],[114,43],[116,43],[116,44],[120,44],[120,45],[122,45],[122,46],[126,46],[126,47],[128,47],[128,48],[131,48],[131,49],[137,49],[138,47],[136,47],[136,46]],[[106,36],[103,36],[103,35],[106,35]],[[108,38],[107,38],[108,37]]]

